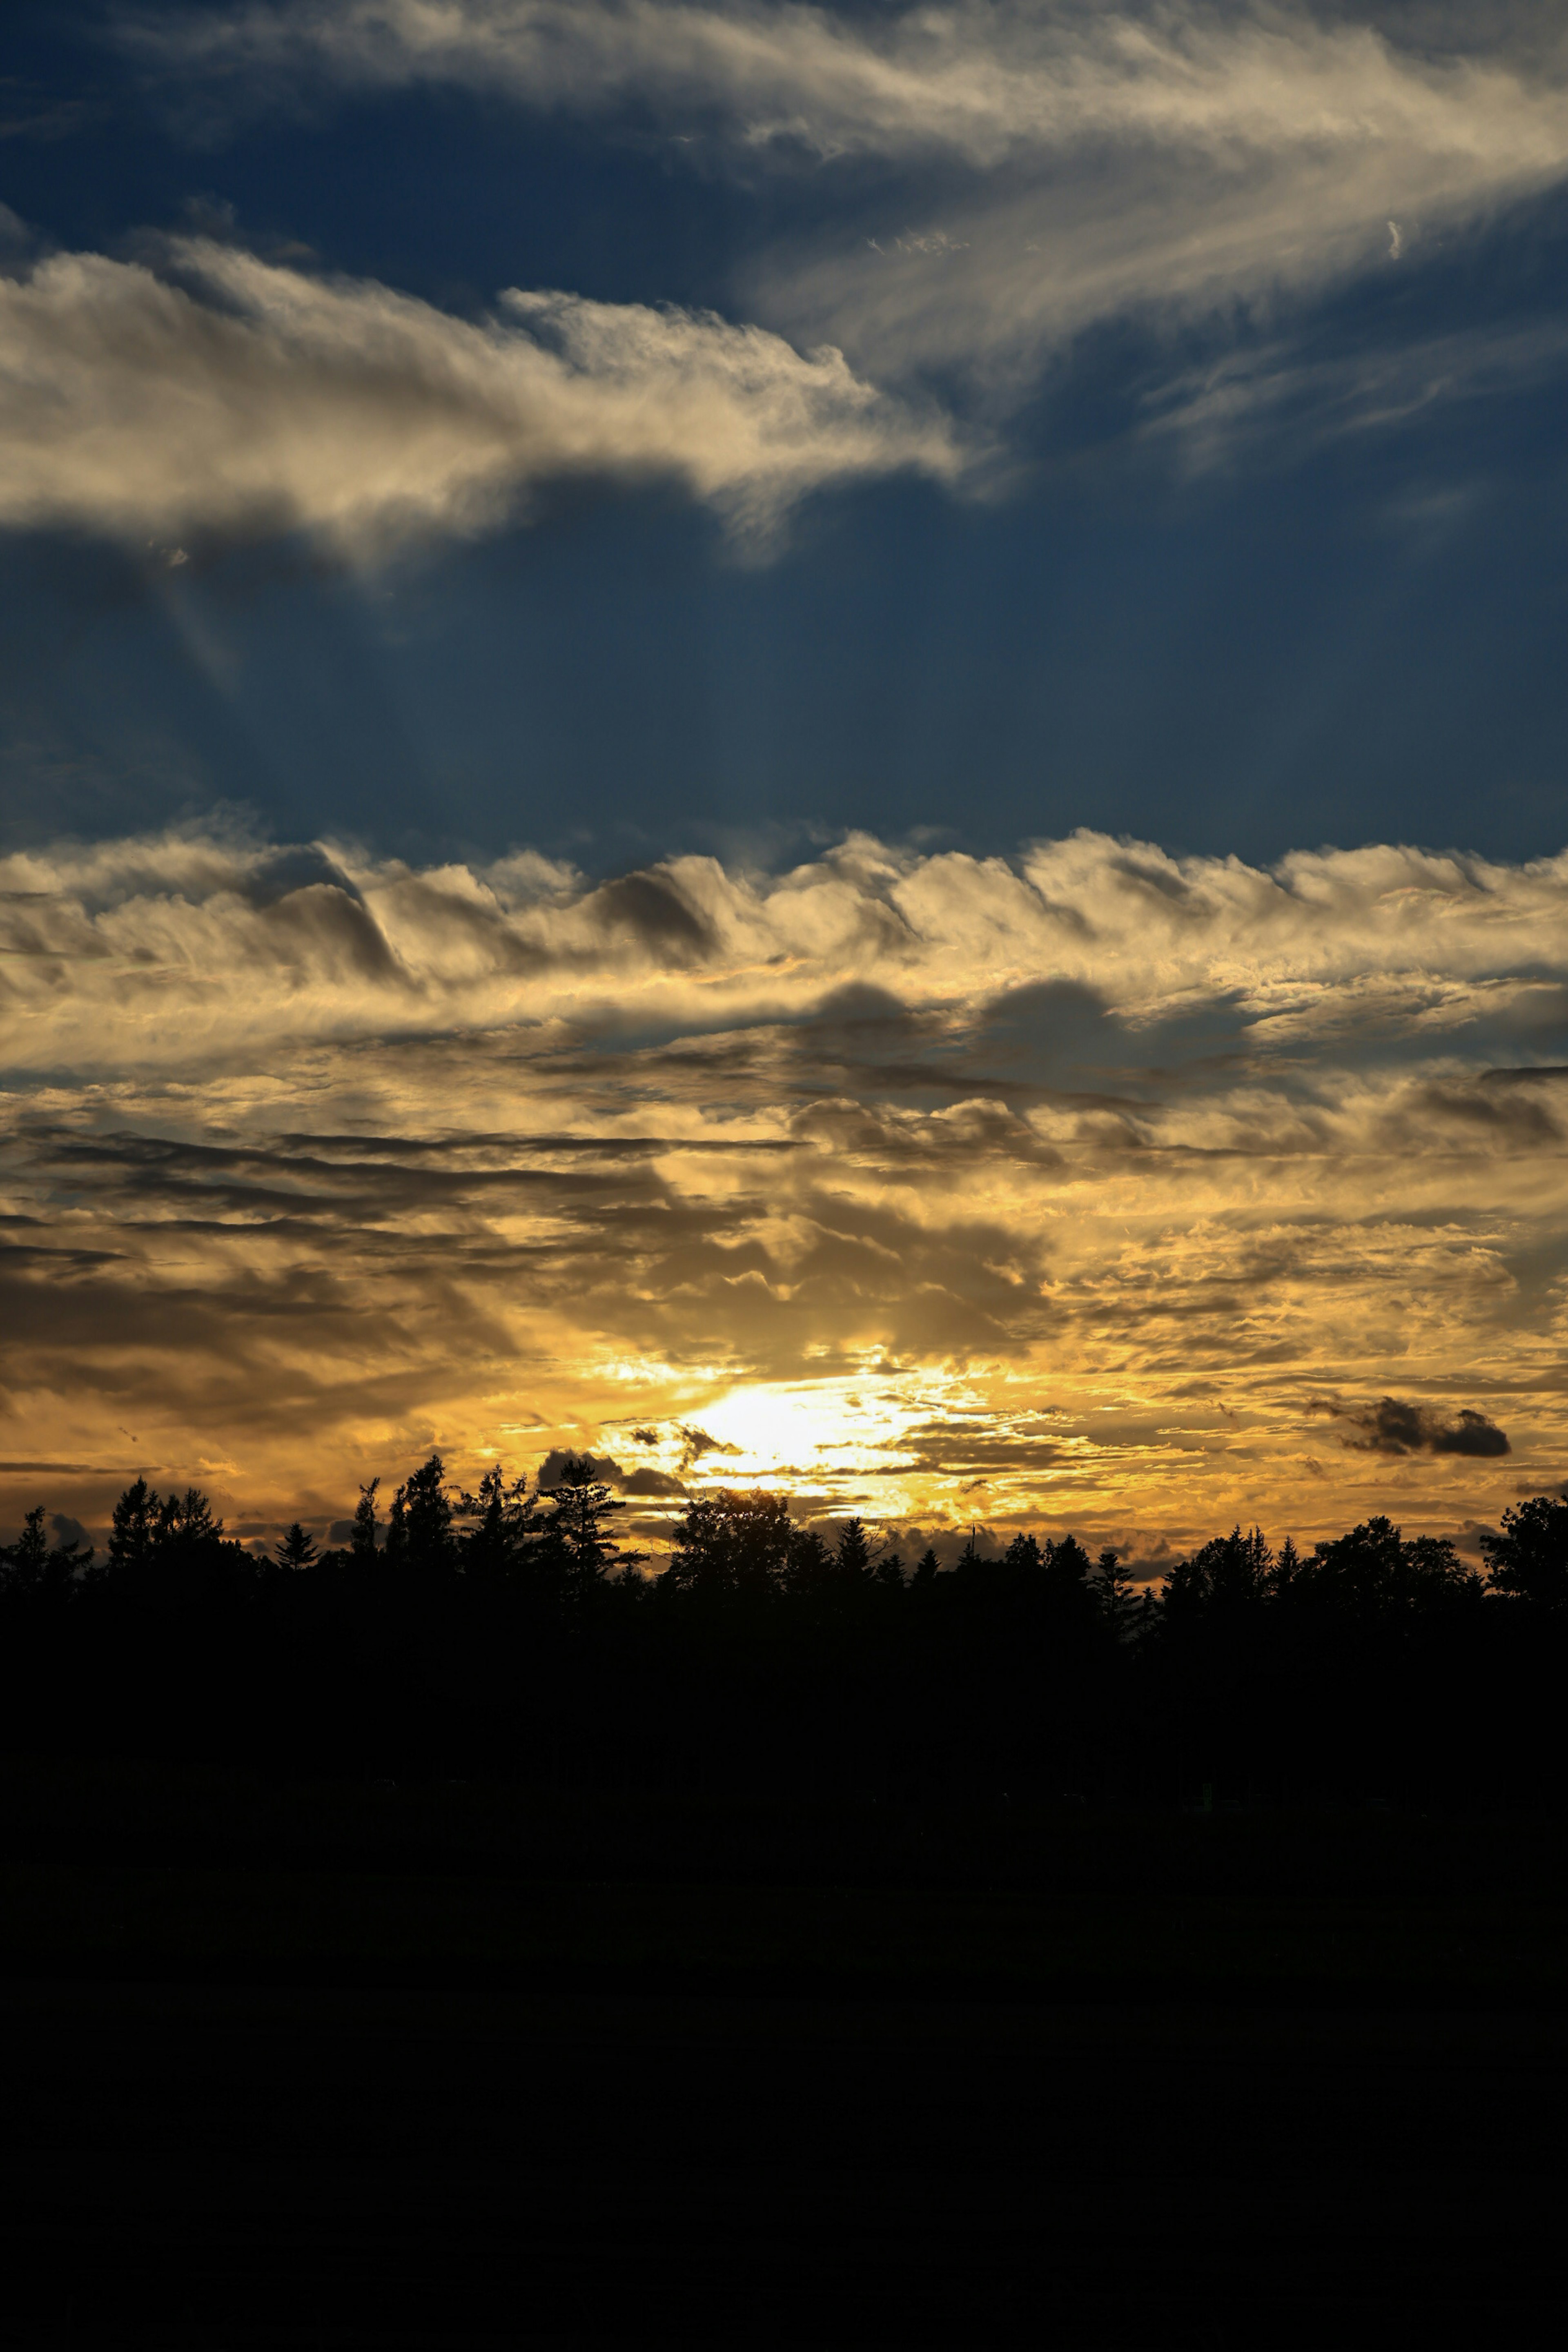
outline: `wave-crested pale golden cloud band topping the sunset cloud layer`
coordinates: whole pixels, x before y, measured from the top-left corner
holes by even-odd
[[[844,988],[971,1021],[1088,988],[1131,1023],[1225,1002],[1253,1042],[1371,1023],[1432,1037],[1568,985],[1568,851],[1408,847],[1274,868],[1079,830],[1016,861],[851,835],[780,875],[708,856],[588,884],[517,854],[414,870],[350,844],[188,830],[0,858],[16,1068],[223,1063],[256,1037],[517,1021],[729,1028]]]

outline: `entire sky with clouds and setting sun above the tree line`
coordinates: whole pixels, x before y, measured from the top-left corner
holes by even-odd
[[[1568,16],[0,31],[0,1531],[1566,1463]]]

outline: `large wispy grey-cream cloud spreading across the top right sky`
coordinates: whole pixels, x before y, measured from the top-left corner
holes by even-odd
[[[992,393],[1110,315],[1403,268],[1568,169],[1561,38],[1476,12],[284,0],[132,38],[223,103],[440,82],[837,169],[832,230],[748,273],[759,315]]]

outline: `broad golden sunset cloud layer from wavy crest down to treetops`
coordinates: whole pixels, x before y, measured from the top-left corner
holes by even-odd
[[[1568,858],[207,830],[0,889],[0,1454],[89,1524],[150,1463],[327,1524],[433,1442],[1143,1557],[1561,1477]]]

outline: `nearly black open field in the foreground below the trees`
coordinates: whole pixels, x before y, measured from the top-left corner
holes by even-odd
[[[9,2343],[1561,2336],[1552,1823],[0,1804]]]

